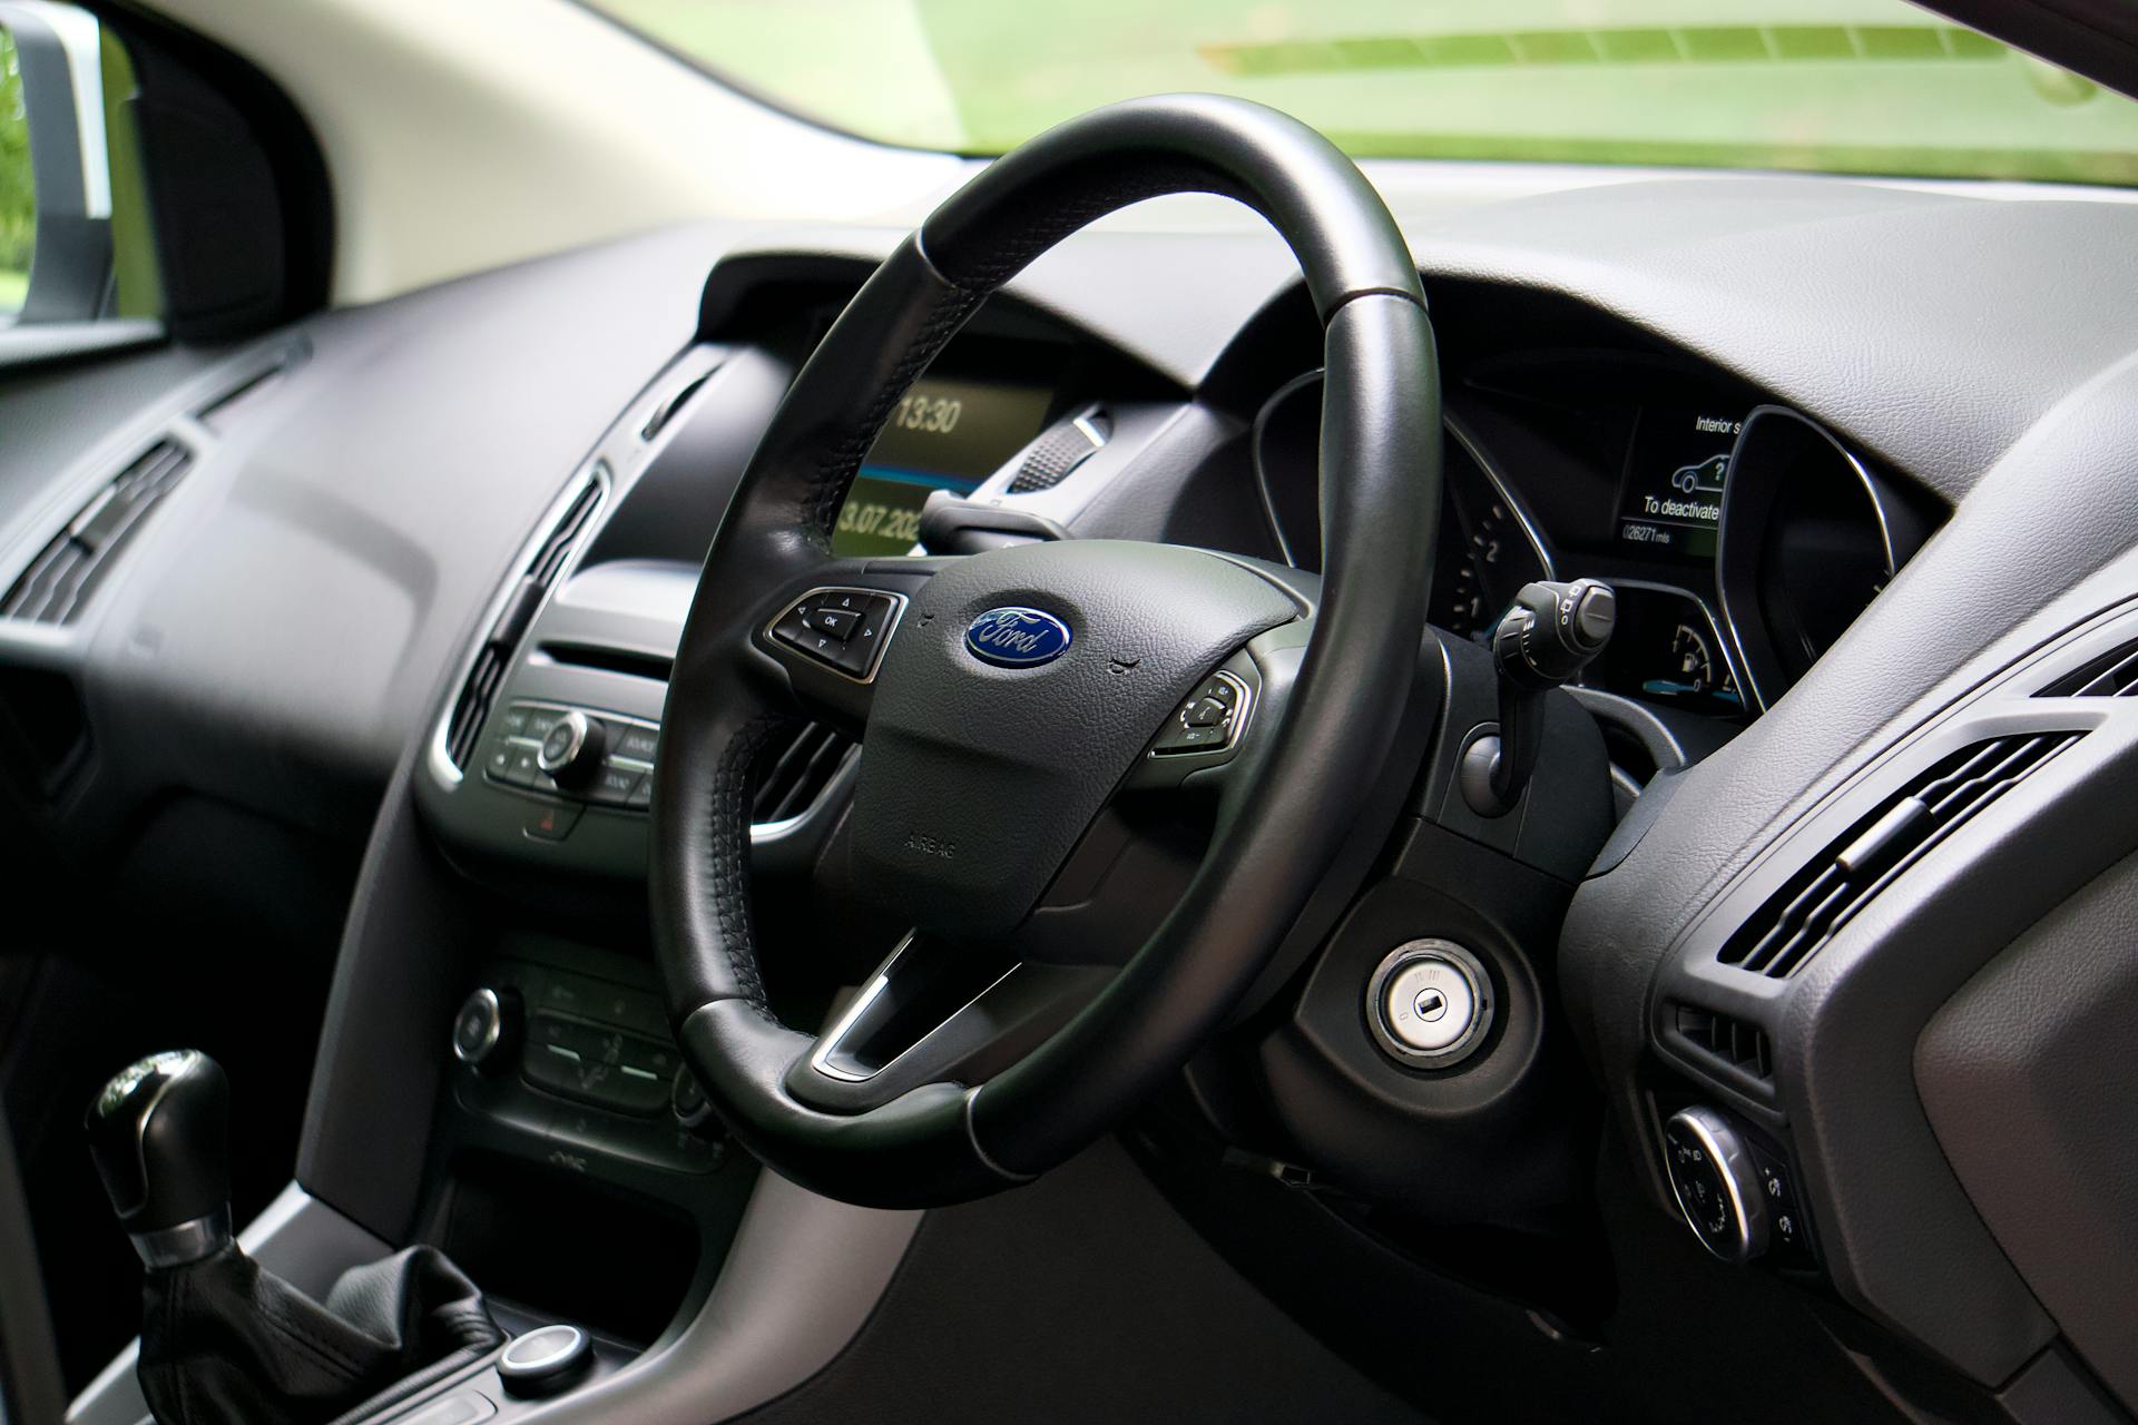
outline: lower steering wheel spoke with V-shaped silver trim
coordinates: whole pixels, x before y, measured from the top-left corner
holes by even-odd
[[[1107,978],[1093,966],[1024,964],[913,931],[793,1062],[787,1092],[827,1113],[862,1113],[928,1083],[983,1083]]]

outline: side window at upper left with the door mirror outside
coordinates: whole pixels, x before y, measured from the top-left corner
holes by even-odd
[[[94,15],[0,0],[0,327],[160,314],[133,98]]]

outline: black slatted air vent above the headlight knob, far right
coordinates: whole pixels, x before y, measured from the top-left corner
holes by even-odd
[[[1772,978],[1796,974],[1901,872],[2080,737],[1993,737],[1939,761],[1770,895],[1723,944],[1721,961]]]

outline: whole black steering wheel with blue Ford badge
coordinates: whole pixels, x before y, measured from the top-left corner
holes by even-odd
[[[1328,367],[1319,588],[1131,541],[834,558],[864,453],[988,293],[1095,218],[1169,192],[1257,209],[1306,276]],[[1131,100],[1039,135],[930,214],[765,429],[669,684],[656,953],[729,1130],[827,1196],[926,1207],[1028,1181],[1176,1072],[1381,776],[1424,639],[1439,476],[1417,269],[1360,171],[1304,124],[1217,96]],[[821,1036],[774,1017],[750,929],[750,788],[804,718],[859,731],[851,880],[913,927]],[[1103,972],[1005,957],[1137,786],[1214,803],[1172,912],[1140,946],[1082,957],[1110,959]]]

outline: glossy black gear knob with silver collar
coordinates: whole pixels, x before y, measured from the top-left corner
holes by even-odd
[[[88,1113],[90,1156],[111,1209],[150,1267],[231,1241],[231,1085],[199,1049],[120,1070]]]

